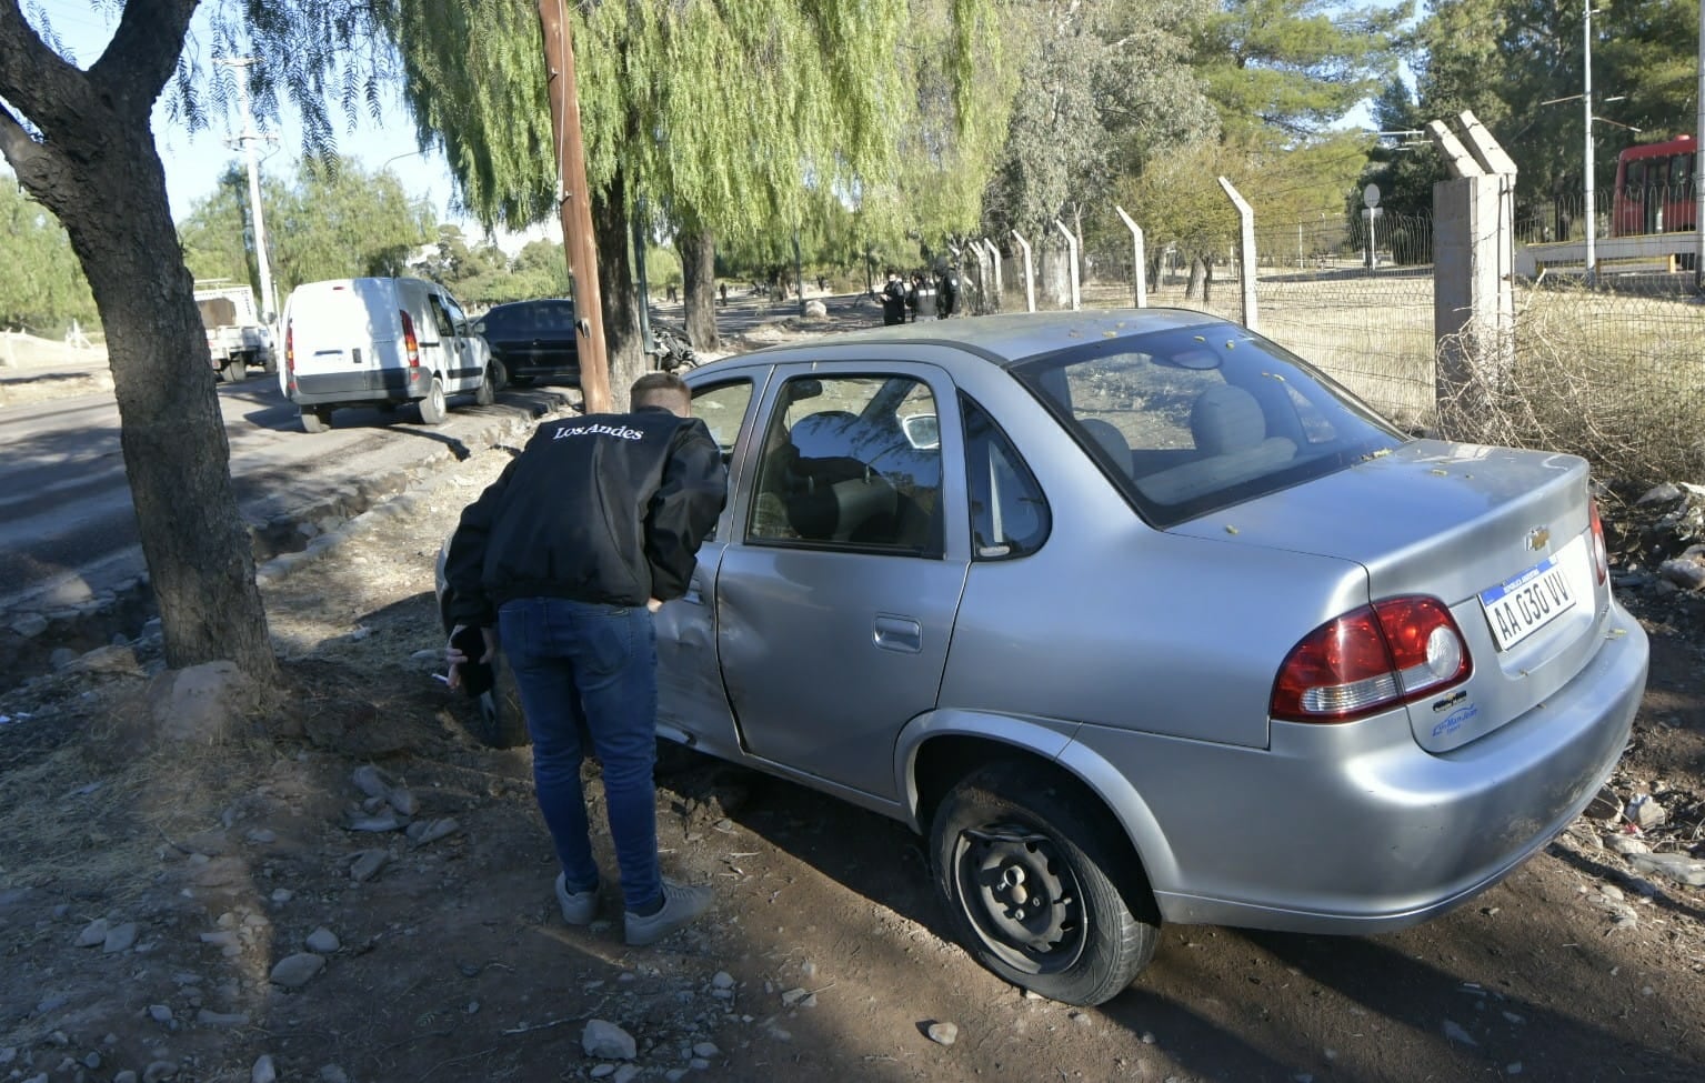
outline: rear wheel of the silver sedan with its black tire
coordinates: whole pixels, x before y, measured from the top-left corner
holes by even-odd
[[[977,962],[1067,1005],[1100,1005],[1132,982],[1154,955],[1159,914],[1110,820],[1042,764],[987,764],[948,791],[929,854]]]

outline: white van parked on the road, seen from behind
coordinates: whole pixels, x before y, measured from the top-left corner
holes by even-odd
[[[491,350],[450,292],[421,278],[338,278],[297,287],[285,302],[285,397],[302,428],[331,428],[339,406],[416,403],[445,418],[445,396],[489,406]]]

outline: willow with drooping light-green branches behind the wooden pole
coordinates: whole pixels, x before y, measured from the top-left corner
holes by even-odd
[[[534,9],[390,3],[404,99],[421,143],[443,145],[465,205],[486,225],[554,215]],[[946,167],[975,165],[977,135],[987,131],[979,121],[1003,107],[974,94],[974,56],[999,72],[989,9],[989,0],[951,0],[945,10],[871,0],[573,5],[612,387],[644,367],[627,259],[636,217],[677,232],[689,333],[714,345],[716,237],[801,229],[822,193],[861,208],[892,203],[910,171],[904,152],[928,128],[924,77],[951,73],[951,123],[938,125],[957,136],[943,147]],[[965,215],[963,205],[955,210]]]

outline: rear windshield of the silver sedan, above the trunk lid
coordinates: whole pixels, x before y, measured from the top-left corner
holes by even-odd
[[[1013,374],[1158,527],[1405,440],[1306,362],[1233,324],[1096,341]]]

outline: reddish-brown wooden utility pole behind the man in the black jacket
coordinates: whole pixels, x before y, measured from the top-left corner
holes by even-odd
[[[563,249],[575,280],[575,331],[580,350],[580,396],[588,414],[610,413],[610,362],[604,351],[604,295],[598,290],[598,249],[592,237],[587,193],[587,148],[580,138],[580,94],[575,90],[575,36],[563,0],[539,0],[544,31],[546,90],[551,133],[556,136],[558,213]]]

